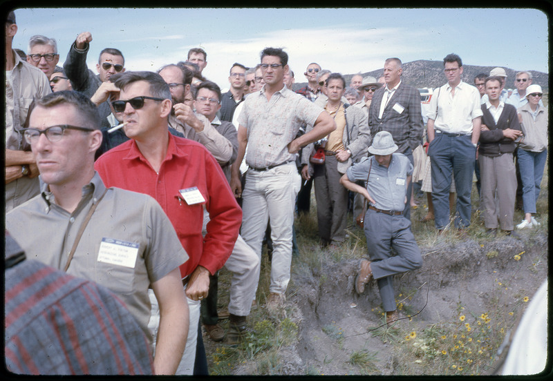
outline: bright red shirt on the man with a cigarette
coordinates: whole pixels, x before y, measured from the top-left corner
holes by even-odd
[[[180,266],[182,277],[198,265],[212,274],[223,267],[238,237],[242,210],[221,166],[204,146],[169,135],[167,155],[156,173],[131,139],[102,155],[94,166],[109,186],[146,193],[159,202],[190,257]],[[198,195],[194,187],[205,202],[187,203],[184,195]],[[211,217],[205,238],[204,206]]]

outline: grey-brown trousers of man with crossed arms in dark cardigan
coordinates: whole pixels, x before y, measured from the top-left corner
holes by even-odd
[[[488,229],[499,226],[504,231],[514,229],[514,202],[516,173],[512,153],[497,157],[480,155],[480,197],[484,210],[484,225]],[[496,208],[496,195],[499,212]]]

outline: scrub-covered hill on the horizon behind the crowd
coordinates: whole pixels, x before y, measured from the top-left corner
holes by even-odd
[[[473,66],[463,65],[463,73],[461,79],[469,84],[474,83],[474,77],[484,72],[489,74],[491,69],[496,66]],[[516,73],[520,70],[512,70],[504,68],[507,72],[507,82],[505,88],[514,88],[514,80]],[[538,84],[542,87],[544,92],[549,92],[549,74],[545,72],[538,72],[535,70],[529,70],[532,73],[532,83]],[[382,76],[382,68],[373,70],[370,72],[362,73],[363,77],[372,75],[375,78]],[[346,74],[346,83],[349,84],[353,74]],[[446,83],[444,75],[444,64],[442,61],[429,61],[420,59],[418,61],[406,62],[403,64],[402,81],[406,84],[414,86],[415,88],[437,88]],[[306,86],[307,82],[301,84],[294,84],[294,90]]]

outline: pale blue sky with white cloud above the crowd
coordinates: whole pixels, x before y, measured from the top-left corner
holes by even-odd
[[[155,71],[200,47],[203,75],[222,88],[234,62],[255,66],[267,46],[288,53],[297,82],[313,61],[353,74],[382,68],[388,57],[441,61],[451,52],[467,65],[548,70],[547,16],[536,9],[18,8],[15,15],[13,47],[27,52],[32,35],[53,37],[59,65],[88,31],[95,72],[103,48],[121,50],[126,70]]]

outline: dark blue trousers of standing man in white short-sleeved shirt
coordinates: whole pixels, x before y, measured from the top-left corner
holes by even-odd
[[[471,224],[472,173],[476,158],[476,147],[471,135],[453,136],[436,133],[429,144],[428,155],[432,164],[432,203],[434,205],[435,227],[449,224],[449,188],[451,173],[457,189],[455,214],[456,228]]]

